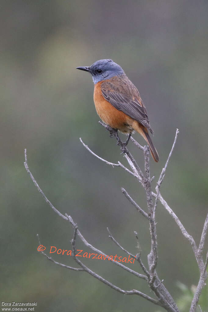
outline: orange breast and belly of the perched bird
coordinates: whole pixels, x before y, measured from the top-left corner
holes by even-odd
[[[100,81],[94,86],[94,105],[99,117],[111,128],[119,129],[123,133],[129,133],[133,130],[134,120],[104,99],[100,89],[101,83]]]

